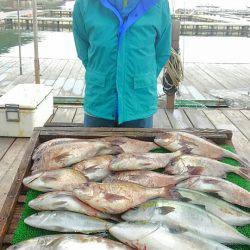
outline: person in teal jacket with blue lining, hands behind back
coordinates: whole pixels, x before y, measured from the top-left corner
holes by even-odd
[[[85,127],[153,126],[171,29],[167,0],[76,0],[73,34],[86,69]]]

